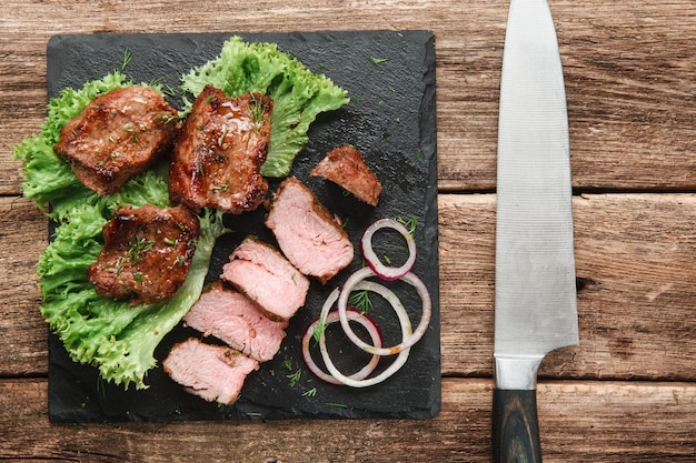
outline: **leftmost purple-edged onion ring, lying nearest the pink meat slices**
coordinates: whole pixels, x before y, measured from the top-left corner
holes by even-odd
[[[331,323],[336,323],[337,321],[339,321],[338,311],[329,312],[329,309],[331,308],[331,305],[334,305],[334,302],[336,302],[337,299],[338,299],[338,288],[336,290],[334,290],[334,292],[331,292],[331,294],[329,294],[329,296],[327,298],[327,300],[326,300],[326,302],[324,304],[325,308],[328,308],[327,311],[325,311],[322,309],[321,310],[321,315],[319,315],[319,318],[317,320],[315,320],[307,328],[307,331],[305,331],[305,335],[302,336],[302,358],[305,359],[305,363],[307,364],[307,368],[309,369],[309,371],[311,371],[317,378],[319,378],[320,380],[324,380],[324,381],[326,381],[327,383],[330,383],[330,384],[342,385],[342,384],[345,384],[344,382],[341,382],[341,381],[337,380],[335,376],[324,372],[319,368],[319,365],[317,365],[315,360],[311,358],[311,352],[309,351],[309,341],[314,336],[315,329],[319,324],[319,322],[321,322],[324,320],[325,325],[329,325]],[[375,345],[377,345],[377,344],[381,345],[381,335],[379,333],[379,330],[378,330],[377,325],[371,320],[366,318],[364,314],[361,314],[357,310],[348,310],[346,312],[346,315],[348,316],[349,320],[354,320],[354,321],[360,323],[367,330],[367,332],[370,335],[370,338],[372,339],[372,343],[375,343]],[[321,333],[320,339],[321,338],[324,338],[324,333]],[[352,380],[362,380],[362,379],[369,376],[375,371],[375,369],[377,368],[378,363],[379,363],[379,355],[374,355],[372,354],[372,358],[370,359],[370,361],[360,371],[351,374],[348,378],[350,378]]]

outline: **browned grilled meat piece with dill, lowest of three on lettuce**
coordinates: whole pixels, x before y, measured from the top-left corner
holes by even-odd
[[[182,205],[123,207],[105,225],[105,245],[87,276],[106,298],[165,301],[186,280],[199,234],[198,217]]]

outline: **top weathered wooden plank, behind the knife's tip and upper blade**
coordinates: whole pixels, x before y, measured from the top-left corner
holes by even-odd
[[[87,0],[7,0],[0,24],[0,194],[19,192],[8,153],[44,115],[46,43],[56,33],[429,29],[436,33],[439,185],[495,187],[508,2],[302,0],[191,10]],[[692,0],[550,1],[563,54],[574,182],[583,189],[692,190],[696,21]],[[620,17],[616,14],[622,11]],[[185,12],[185,13],[183,13]],[[186,21],[182,21],[182,14]]]

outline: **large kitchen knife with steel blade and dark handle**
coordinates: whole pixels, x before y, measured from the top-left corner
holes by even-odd
[[[537,370],[578,343],[566,94],[545,0],[510,3],[497,169],[494,461],[540,462]]]

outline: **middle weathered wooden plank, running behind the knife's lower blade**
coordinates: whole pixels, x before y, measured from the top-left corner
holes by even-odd
[[[585,195],[574,207],[581,344],[549,355],[541,375],[695,380],[696,197]],[[22,199],[0,199],[0,212],[11,218],[0,326],[17,333],[0,336],[0,374],[46,374],[33,276],[46,221]],[[495,195],[440,195],[439,218],[443,372],[490,376]]]

